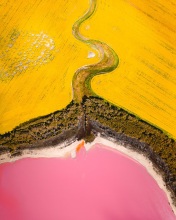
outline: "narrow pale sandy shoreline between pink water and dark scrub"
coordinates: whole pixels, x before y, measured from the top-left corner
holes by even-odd
[[[168,202],[171,206],[172,211],[176,215],[176,204],[174,196],[172,192],[166,187],[166,183],[163,180],[163,175],[159,171],[159,169],[153,164],[151,160],[147,158],[144,153],[139,152],[137,150],[128,148],[123,144],[119,144],[116,139],[112,137],[102,137],[100,134],[94,139],[91,143],[84,143],[84,140],[74,141],[71,144],[62,143],[56,146],[50,146],[47,148],[40,149],[23,149],[21,151],[21,155],[11,156],[10,153],[4,153],[0,155],[0,164],[15,162],[17,160],[21,160],[24,158],[66,158],[72,157],[73,159],[76,157],[78,146],[81,145],[85,147],[86,151],[91,149],[96,143],[105,145],[112,149],[119,151],[122,154],[127,155],[131,159],[137,161],[139,164],[145,167],[147,172],[155,179],[158,186],[164,191]]]

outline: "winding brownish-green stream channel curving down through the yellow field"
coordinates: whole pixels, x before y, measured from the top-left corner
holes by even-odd
[[[82,101],[84,96],[89,97],[95,95],[91,89],[91,79],[95,75],[113,71],[117,68],[119,63],[119,58],[111,47],[101,41],[87,39],[79,32],[81,24],[90,18],[95,12],[96,4],[97,0],[90,0],[90,7],[88,11],[73,25],[73,35],[75,38],[90,45],[90,47],[96,49],[100,54],[100,61],[98,63],[83,66],[74,74],[72,81],[73,99],[79,103]]]

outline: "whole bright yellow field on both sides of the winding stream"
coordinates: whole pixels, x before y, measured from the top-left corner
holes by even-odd
[[[71,101],[74,72],[98,61],[98,56],[87,59],[90,48],[74,39],[71,32],[88,3],[2,1],[0,133]],[[98,0],[96,13],[80,30],[82,35],[107,43],[120,59],[115,71],[93,78],[95,93],[174,138],[175,11],[174,0]]]

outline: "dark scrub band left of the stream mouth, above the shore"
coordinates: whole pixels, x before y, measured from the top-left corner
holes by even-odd
[[[76,140],[81,121],[80,105],[71,102],[65,109],[31,119],[0,135],[0,154],[19,154],[26,148],[41,148]]]

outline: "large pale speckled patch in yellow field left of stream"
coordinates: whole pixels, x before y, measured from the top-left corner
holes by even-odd
[[[9,39],[4,39],[4,43],[7,45],[4,45],[4,50],[0,53],[3,60],[1,80],[11,79],[27,69],[41,67],[51,62],[56,55],[54,40],[44,32],[20,33],[14,29]],[[14,54],[13,57],[11,54]]]

